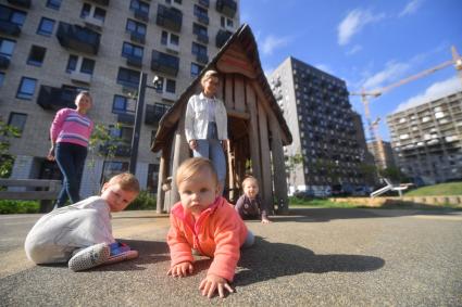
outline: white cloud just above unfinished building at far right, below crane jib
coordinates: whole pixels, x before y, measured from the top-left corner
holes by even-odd
[[[454,76],[444,81],[433,84],[423,93],[410,98],[405,102],[399,104],[394,113],[404,111],[426,102],[438,100],[457,91],[462,91],[462,85],[460,78]]]

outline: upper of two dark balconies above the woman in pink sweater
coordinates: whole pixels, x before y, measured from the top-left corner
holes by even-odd
[[[98,54],[101,35],[89,28],[60,22],[57,38],[64,48]]]

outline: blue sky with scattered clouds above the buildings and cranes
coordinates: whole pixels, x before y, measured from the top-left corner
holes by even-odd
[[[451,46],[462,54],[461,0],[241,0],[240,10],[266,74],[291,55],[344,79],[350,92],[450,61]],[[387,115],[457,90],[462,79],[448,66],[372,99],[372,119],[382,118],[380,136],[389,140]],[[359,97],[350,102],[364,114]]]

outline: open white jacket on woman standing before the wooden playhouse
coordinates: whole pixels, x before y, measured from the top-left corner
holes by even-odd
[[[214,98],[215,103],[215,121],[218,133],[218,140],[228,139],[228,118],[224,103]],[[186,106],[185,117],[185,135],[186,140],[205,140],[207,127],[209,124],[208,99],[201,92],[200,94],[191,95]]]

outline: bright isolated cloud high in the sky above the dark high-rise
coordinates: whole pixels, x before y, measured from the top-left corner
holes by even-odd
[[[371,11],[353,10],[338,25],[338,44],[345,46],[365,25],[375,23],[385,17],[385,14],[372,14]]]

